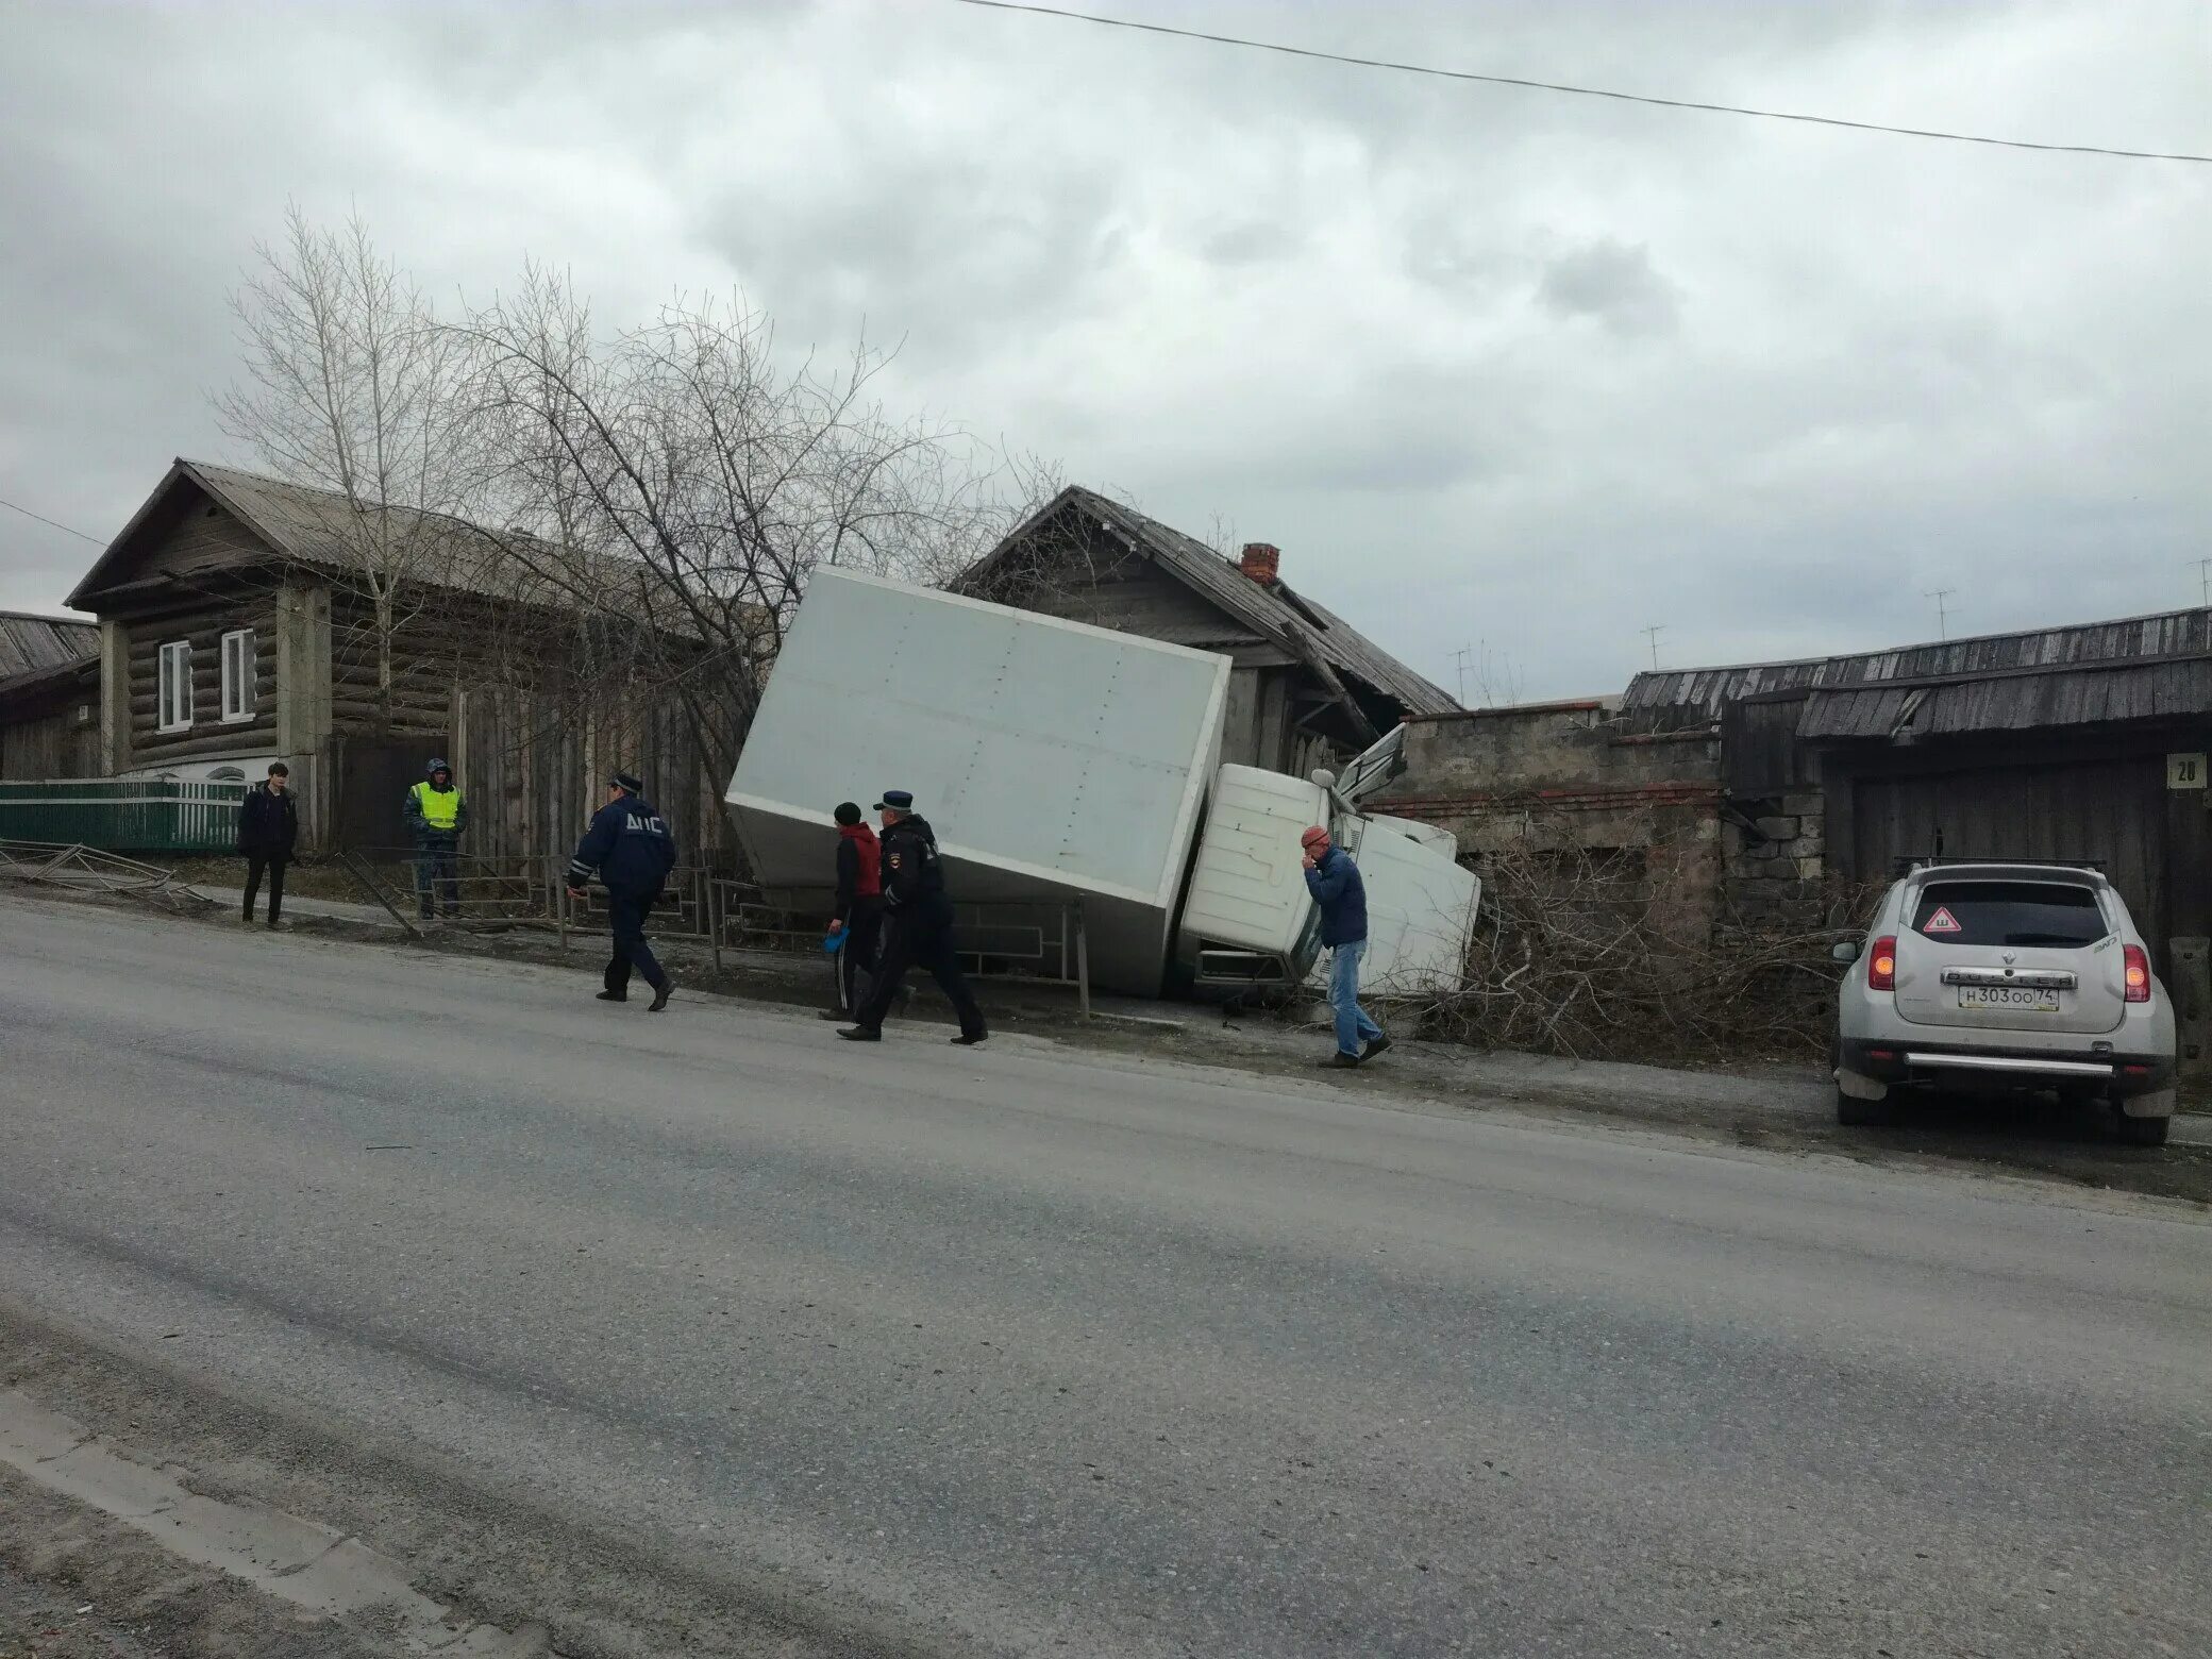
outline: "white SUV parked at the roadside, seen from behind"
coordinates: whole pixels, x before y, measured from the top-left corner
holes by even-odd
[[[1913,865],[1836,960],[1838,1124],[1893,1121],[1907,1088],[2057,1091],[2166,1144],[2174,1006],[2097,869]]]

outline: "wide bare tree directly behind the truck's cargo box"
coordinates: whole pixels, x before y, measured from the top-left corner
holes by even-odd
[[[787,363],[741,299],[602,336],[533,265],[460,336],[480,515],[518,526],[511,557],[588,619],[586,655],[646,675],[719,776],[816,568],[942,582],[1042,482],[949,422],[887,414],[889,356],[865,343]]]

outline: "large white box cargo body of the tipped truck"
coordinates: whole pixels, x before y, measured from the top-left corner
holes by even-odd
[[[1159,991],[1230,659],[823,568],[730,779],[757,880],[832,880],[838,801],[911,790],[956,900],[1084,902],[1095,984]]]

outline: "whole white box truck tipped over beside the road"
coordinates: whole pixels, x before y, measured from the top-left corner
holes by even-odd
[[[1130,995],[1303,984],[1321,942],[1298,832],[1327,823],[1367,880],[1367,982],[1455,989],[1478,883],[1451,836],[1363,814],[1327,774],[1221,765],[1228,684],[1208,650],[818,571],[730,816],[754,880],[803,907],[832,867],[836,803],[914,790],[953,896],[989,916],[978,933],[1073,916],[1088,980]]]

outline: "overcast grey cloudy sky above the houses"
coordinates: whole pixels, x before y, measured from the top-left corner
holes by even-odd
[[[1453,69],[2212,153],[2203,0],[1088,0]],[[2194,604],[2212,166],[1256,55],[951,0],[0,0],[0,495],[223,458],[288,197],[438,292],[741,285],[1447,688]],[[0,509],[0,606],[93,546]],[[1471,657],[1473,664],[1478,657]],[[1471,697],[1478,695],[1469,688]]]

